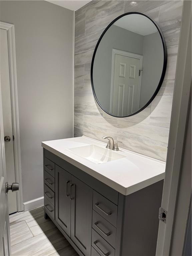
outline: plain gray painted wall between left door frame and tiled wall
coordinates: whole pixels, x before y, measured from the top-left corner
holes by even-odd
[[[41,141],[72,137],[73,12],[46,1],[1,1],[15,25],[23,201],[43,196]]]

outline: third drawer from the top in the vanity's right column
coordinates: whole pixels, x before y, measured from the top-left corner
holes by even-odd
[[[102,256],[114,256],[115,249],[108,244],[94,229],[92,229],[92,247]]]

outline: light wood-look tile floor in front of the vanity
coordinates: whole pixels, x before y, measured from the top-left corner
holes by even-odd
[[[13,256],[78,256],[43,206],[9,216]]]

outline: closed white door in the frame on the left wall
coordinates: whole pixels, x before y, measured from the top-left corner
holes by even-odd
[[[7,170],[7,181],[9,184],[15,182],[13,130],[11,114],[11,92],[9,78],[9,56],[7,31],[0,29],[0,64],[1,64],[1,93],[3,107],[3,126],[5,141],[5,159]],[[8,194],[9,214],[17,211],[16,193]]]

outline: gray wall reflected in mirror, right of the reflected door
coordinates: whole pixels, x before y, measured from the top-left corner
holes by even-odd
[[[159,32],[144,36],[140,107],[143,107],[153,96],[160,81],[162,69],[163,45]]]

